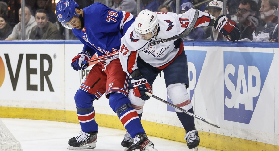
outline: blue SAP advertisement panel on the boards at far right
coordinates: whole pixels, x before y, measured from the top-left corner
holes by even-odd
[[[224,52],[224,120],[250,123],[273,56],[274,53]]]

